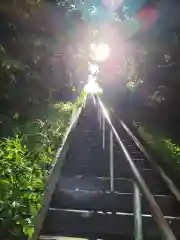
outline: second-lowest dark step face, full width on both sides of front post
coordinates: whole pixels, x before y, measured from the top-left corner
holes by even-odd
[[[165,216],[180,216],[180,205],[173,196],[154,196]],[[86,190],[56,189],[51,208],[133,213],[133,194],[104,193]],[[142,197],[142,213],[150,214],[147,201]]]

